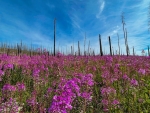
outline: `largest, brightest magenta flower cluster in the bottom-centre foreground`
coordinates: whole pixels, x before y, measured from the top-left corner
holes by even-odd
[[[75,80],[63,80],[63,82],[66,84],[64,86],[59,85],[60,90],[57,90],[57,93],[60,95],[53,97],[53,102],[48,110],[49,113],[67,113],[68,110],[72,109],[73,100],[77,95],[80,95],[80,87]]]

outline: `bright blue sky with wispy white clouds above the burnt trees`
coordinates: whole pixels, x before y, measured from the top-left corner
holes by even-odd
[[[112,2],[113,1],[113,2]],[[150,46],[148,33],[148,0],[0,0],[0,42],[53,48],[53,24],[56,18],[56,49],[70,51],[74,42],[75,51],[80,41],[84,48],[86,32],[87,50],[90,47],[99,53],[99,34],[103,50],[109,53],[108,36],[112,46],[120,46],[125,53],[121,23],[124,12],[128,44],[141,55]]]

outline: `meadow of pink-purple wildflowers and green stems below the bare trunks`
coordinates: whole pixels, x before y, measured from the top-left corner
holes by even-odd
[[[149,113],[150,57],[0,55],[0,113]]]

